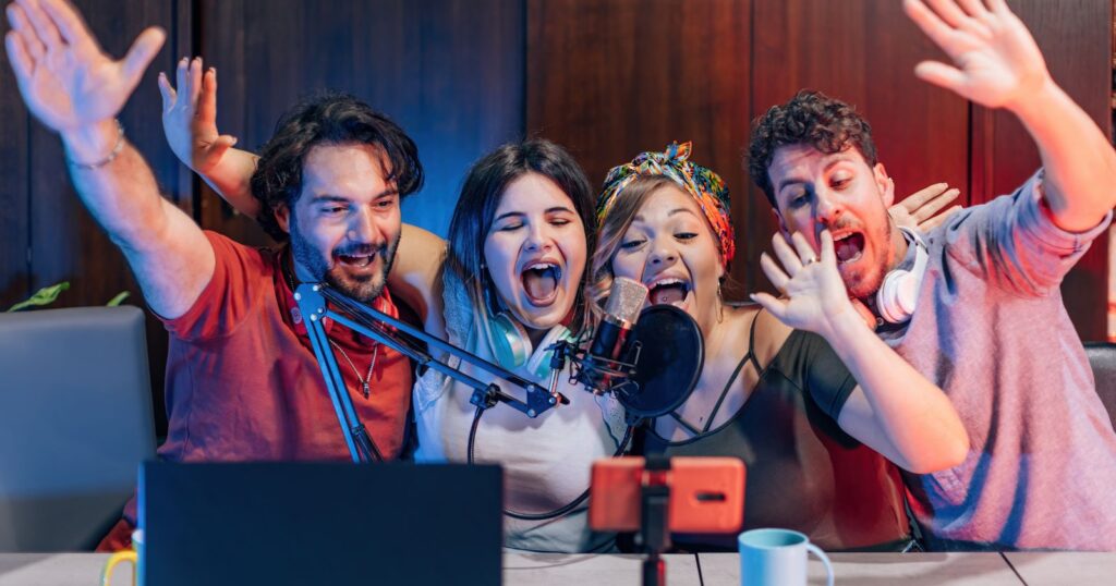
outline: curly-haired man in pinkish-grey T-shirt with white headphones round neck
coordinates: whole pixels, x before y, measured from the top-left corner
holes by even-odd
[[[822,260],[860,315],[831,320],[867,318],[956,406],[969,457],[906,477],[931,547],[1116,549],[1116,433],[1059,291],[1112,219],[1116,153],[1003,0],[904,8],[955,64],[922,63],[915,75],[1016,114],[1043,169],[918,237],[888,219],[894,184],[867,122],[802,92],[757,122],[749,171],[781,232],[814,250],[780,253],[782,270],[764,259],[764,270],[793,294],[796,276],[825,269],[819,244],[835,252]]]

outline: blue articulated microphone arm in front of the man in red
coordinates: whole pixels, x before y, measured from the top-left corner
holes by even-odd
[[[556,391],[555,383],[557,381],[554,377],[551,378],[550,388],[543,388],[527,378],[481,359],[456,346],[446,344],[383,311],[355,301],[328,285],[301,284],[295,290],[295,300],[302,313],[306,329],[310,335],[310,345],[314,347],[314,355],[318,359],[318,366],[321,367],[321,376],[325,380],[326,388],[329,391],[329,397],[333,400],[334,411],[337,412],[337,421],[345,432],[345,441],[348,443],[349,453],[354,462],[381,461],[383,457],[376,449],[375,442],[368,436],[368,430],[365,429],[364,423],[360,422],[356,415],[356,411],[353,409],[353,400],[345,387],[345,382],[337,367],[337,358],[329,348],[329,338],[326,337],[326,330],[321,324],[321,320],[327,317],[403,354],[420,366],[434,368],[454,381],[468,385],[473,390],[473,395],[469,402],[481,410],[491,409],[497,403],[502,402],[521,411],[529,417],[537,417],[558,403],[569,403],[568,398]],[[329,305],[327,305],[327,301]],[[527,402],[523,403],[504,393],[496,383],[482,383],[445,363],[434,359],[430,354],[419,348],[416,344],[407,339],[401,339],[396,334],[389,332],[388,328],[402,332],[410,338],[425,343],[427,347],[437,348],[446,354],[456,356],[477,368],[523,388],[527,391]]]

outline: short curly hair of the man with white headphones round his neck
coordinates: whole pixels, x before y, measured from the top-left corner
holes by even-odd
[[[775,185],[771,184],[768,167],[779,147],[796,144],[810,145],[826,154],[853,147],[860,152],[869,167],[877,162],[876,144],[872,141],[868,121],[860,117],[853,106],[839,99],[804,89],[787,104],[771,106],[767,114],[752,124],[748,173],[777,210],[779,206],[776,204]]]

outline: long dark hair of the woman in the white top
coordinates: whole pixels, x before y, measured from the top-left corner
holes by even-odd
[[[492,228],[492,219],[500,205],[500,198],[511,182],[526,173],[538,173],[554,181],[574,202],[574,210],[585,225],[586,250],[589,254],[596,246],[597,219],[594,214],[593,188],[585,172],[574,157],[561,146],[550,141],[535,138],[521,143],[506,144],[473,164],[461,186],[458,206],[450,220],[450,249],[446,258],[449,270],[465,284],[473,307],[483,308],[496,315],[496,286],[484,269],[484,240]],[[588,261],[588,259],[586,259]],[[577,284],[574,301],[574,319],[569,329],[579,333],[588,324],[588,304],[585,301],[585,286],[589,267]]]

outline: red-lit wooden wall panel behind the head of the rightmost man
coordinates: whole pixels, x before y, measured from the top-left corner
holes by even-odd
[[[752,19],[752,117],[799,89],[818,89],[854,106],[872,124],[879,161],[896,199],[941,181],[969,182],[966,102],[914,77],[937,49],[901,2],[788,0],[756,2]],[[747,233],[749,282],[769,289],[759,253],[778,229],[763,192],[751,188]],[[738,233],[740,229],[738,228]],[[739,240],[739,237],[738,237]]]

